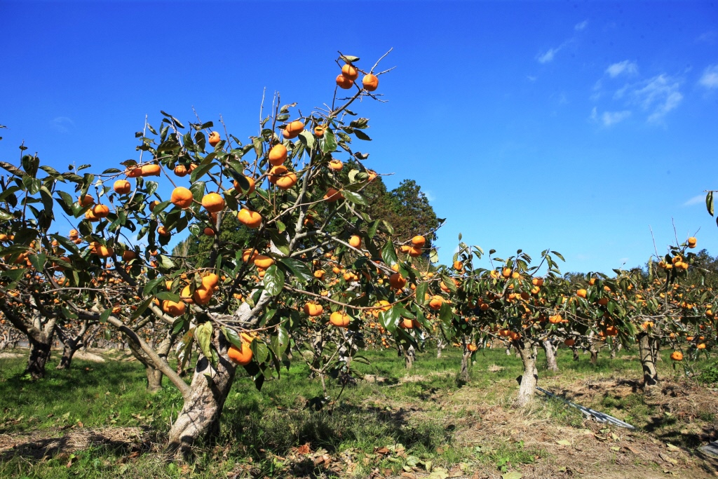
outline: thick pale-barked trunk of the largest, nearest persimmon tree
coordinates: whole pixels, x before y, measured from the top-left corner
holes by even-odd
[[[212,441],[219,434],[220,415],[234,381],[236,366],[227,357],[230,344],[222,332],[215,330],[214,335],[219,363],[215,369],[204,356],[197,361],[191,394],[185,398],[182,411],[169,430],[168,452],[186,454],[197,440]]]

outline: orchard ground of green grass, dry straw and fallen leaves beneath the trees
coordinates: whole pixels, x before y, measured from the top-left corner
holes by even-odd
[[[238,378],[222,437],[184,464],[161,454],[180,394],[169,385],[146,393],[139,363],[108,353],[106,362],[56,371],[51,361],[33,383],[22,377],[25,358],[0,359],[0,478],[699,478],[717,470],[695,448],[715,439],[718,396],[669,361],[659,363],[663,382],[651,394],[640,390],[635,351],[615,360],[602,352],[592,366],[561,350],[560,373],[540,368],[540,386],[638,427],[629,432],[556,400],[512,409],[521,364],[503,350],[477,354],[461,387],[457,350],[419,353],[411,371],[391,350],[365,355],[364,380],[343,392],[331,384],[339,399],[323,406],[320,383],[298,363],[261,392]]]

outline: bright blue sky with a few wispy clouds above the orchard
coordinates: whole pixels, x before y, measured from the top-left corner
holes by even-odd
[[[367,166],[421,185],[467,243],[544,248],[564,271],[643,264],[699,231],[718,189],[718,4],[659,2],[0,2],[0,159],[98,169],[137,158],[160,110],[257,132],[264,88],[330,101],[337,50],[393,47]],[[64,227],[61,228],[64,230]]]

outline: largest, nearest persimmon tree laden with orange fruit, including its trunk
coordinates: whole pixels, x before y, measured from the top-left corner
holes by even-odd
[[[61,173],[41,167],[37,155],[24,155],[18,166],[1,163],[9,173],[0,182],[1,292],[13,298],[2,312],[39,338],[29,369],[44,368],[46,337],[58,320],[121,332],[181,392],[168,449],[188,450],[218,433],[238,366],[261,387],[289,363],[310,317],[333,336],[349,368],[363,312],[381,309],[394,331],[401,317],[420,315],[406,280],[383,282],[395,274],[415,282],[419,271],[409,262],[398,266],[401,245],[382,241],[391,225],[365,212],[363,190],[376,173],[354,146],[370,139],[368,119],[352,109],[381,98],[374,92],[388,70],[378,72],[379,62],[362,70],[358,62],[340,56],[330,106],[301,113],[276,95],[246,143],[225,128],[215,131],[213,122],[197,118],[185,127],[163,112],[158,129],[146,124],[136,134],[139,158],[118,168]],[[356,166],[348,170],[342,159]],[[69,235],[60,232],[60,215],[70,219]],[[220,241],[225,215],[253,231],[243,244]],[[209,254],[170,254],[171,236],[183,231],[213,237]],[[423,244],[413,248],[425,253]],[[332,256],[352,274],[329,285],[317,271]],[[322,315],[307,314],[308,303],[322,306]],[[191,383],[143,338],[143,321],[181,338],[182,366],[200,350]]]

